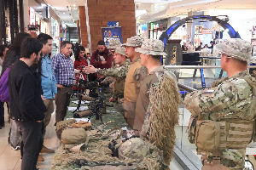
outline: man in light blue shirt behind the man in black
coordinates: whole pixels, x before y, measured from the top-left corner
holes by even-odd
[[[41,61],[41,86],[42,86],[42,99],[47,111],[44,112],[44,132],[43,139],[47,125],[49,124],[50,117],[54,111],[53,100],[57,94],[57,86],[55,74],[52,69],[51,60],[49,59],[49,53],[52,50],[52,37],[48,34],[41,33],[38,36],[38,40],[43,43],[42,48],[42,61]],[[54,153],[55,150],[50,150],[43,145],[41,153]],[[39,161],[44,161],[44,158],[39,156]]]

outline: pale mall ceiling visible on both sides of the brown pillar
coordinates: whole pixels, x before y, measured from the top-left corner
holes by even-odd
[[[79,6],[85,0],[40,0],[49,4],[67,26],[76,26],[79,20]],[[119,0],[121,1],[121,0]],[[167,17],[188,14],[189,11],[208,9],[255,9],[255,0],[135,0],[137,22],[160,20]]]

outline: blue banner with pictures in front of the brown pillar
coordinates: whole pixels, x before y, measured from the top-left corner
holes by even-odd
[[[120,42],[123,43],[122,27],[102,27],[102,40],[106,43],[107,47],[109,44],[109,38],[119,38]]]

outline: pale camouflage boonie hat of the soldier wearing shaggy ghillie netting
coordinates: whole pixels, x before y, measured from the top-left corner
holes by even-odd
[[[136,52],[150,55],[166,55],[164,43],[157,39],[145,39],[141,48],[136,48]]]

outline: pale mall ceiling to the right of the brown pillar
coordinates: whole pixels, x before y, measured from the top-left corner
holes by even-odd
[[[137,22],[160,20],[172,16],[188,14],[190,11],[209,9],[255,9],[255,0],[135,0]],[[143,2],[143,3],[141,3]],[[150,3],[149,3],[150,2]]]

